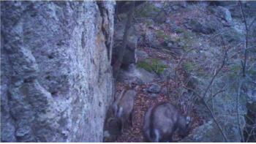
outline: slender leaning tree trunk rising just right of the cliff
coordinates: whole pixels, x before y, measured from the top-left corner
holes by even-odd
[[[129,35],[129,31],[130,31],[129,28],[131,27],[131,24],[132,24],[132,12],[134,10],[134,7],[135,7],[135,1],[131,1],[131,5],[129,7],[129,14],[128,14],[128,18],[127,18],[127,24],[124,29],[124,37],[123,37],[121,50],[119,50],[118,59],[116,60],[115,64],[113,64],[113,76],[114,77],[116,77],[116,75],[118,74],[118,71],[121,67],[121,62],[123,61],[123,58],[124,58],[124,51],[127,46],[127,38]]]

